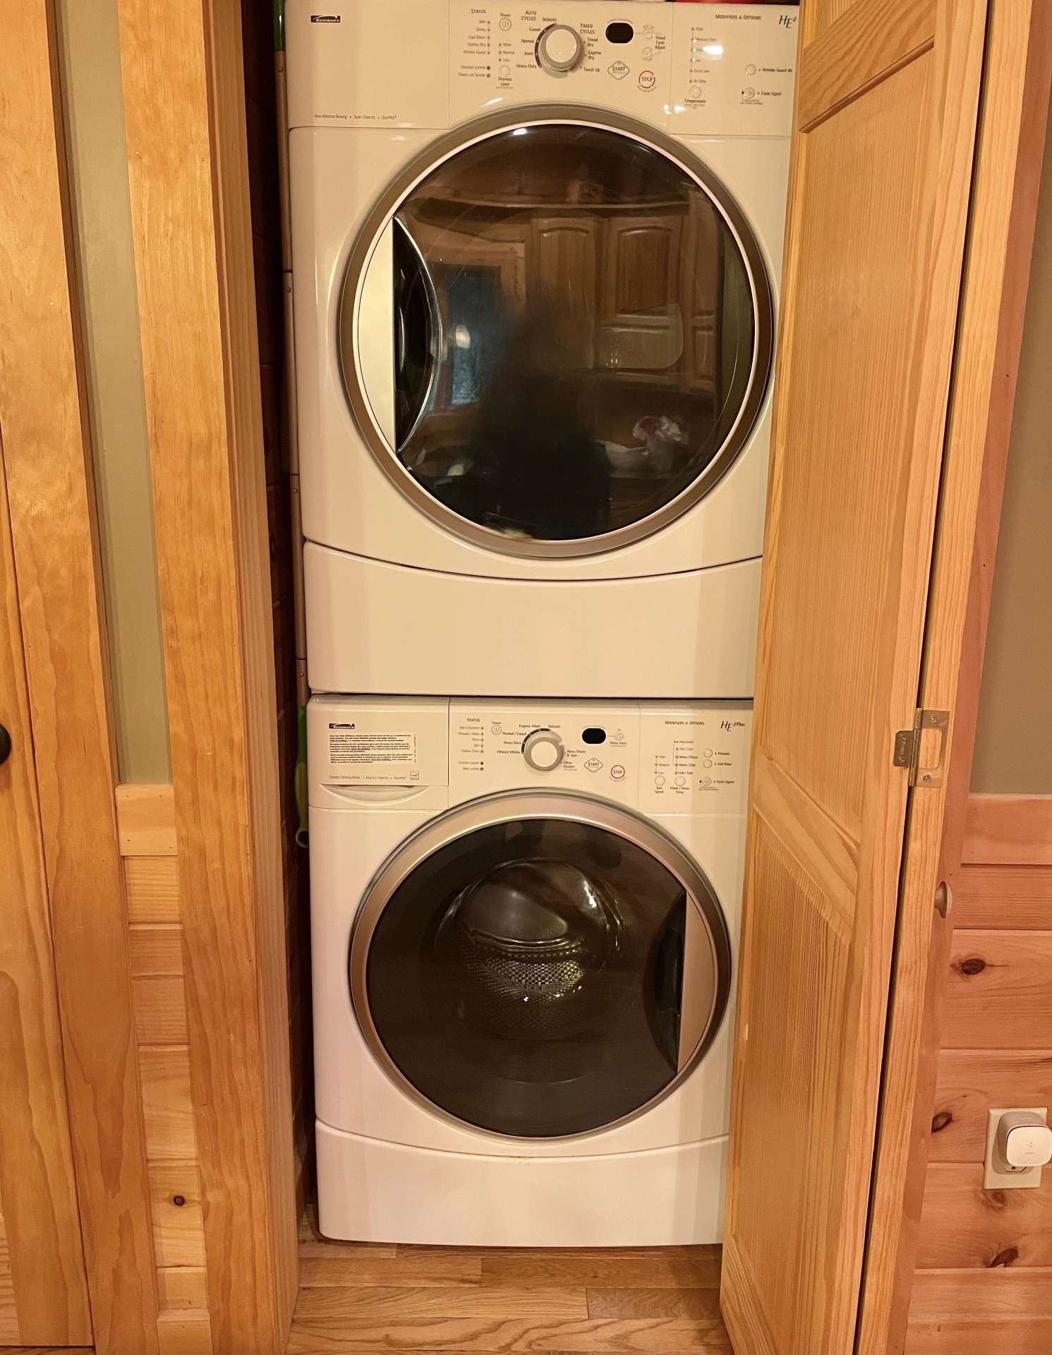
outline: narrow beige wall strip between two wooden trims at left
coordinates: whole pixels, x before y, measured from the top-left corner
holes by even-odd
[[[120,779],[167,782],[168,707],[116,0],[61,0],[62,92]]]

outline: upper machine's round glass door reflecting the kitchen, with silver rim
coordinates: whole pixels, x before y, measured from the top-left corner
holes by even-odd
[[[418,508],[493,550],[584,556],[659,530],[731,465],[772,299],[746,220],[689,152],[550,112],[475,123],[409,167],[352,252],[340,360]]]

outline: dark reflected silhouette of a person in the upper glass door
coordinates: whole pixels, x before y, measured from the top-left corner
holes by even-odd
[[[504,341],[473,424],[470,455],[491,485],[493,520],[539,541],[609,527],[609,463],[581,415],[566,317],[536,305]]]

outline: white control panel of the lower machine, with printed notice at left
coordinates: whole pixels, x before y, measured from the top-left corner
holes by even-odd
[[[550,787],[649,814],[743,814],[747,702],[311,696],[311,787]],[[311,804],[314,801],[311,799]]]

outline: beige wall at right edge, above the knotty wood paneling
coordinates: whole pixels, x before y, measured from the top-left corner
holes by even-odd
[[[972,790],[1052,794],[1052,130],[1026,302]]]

